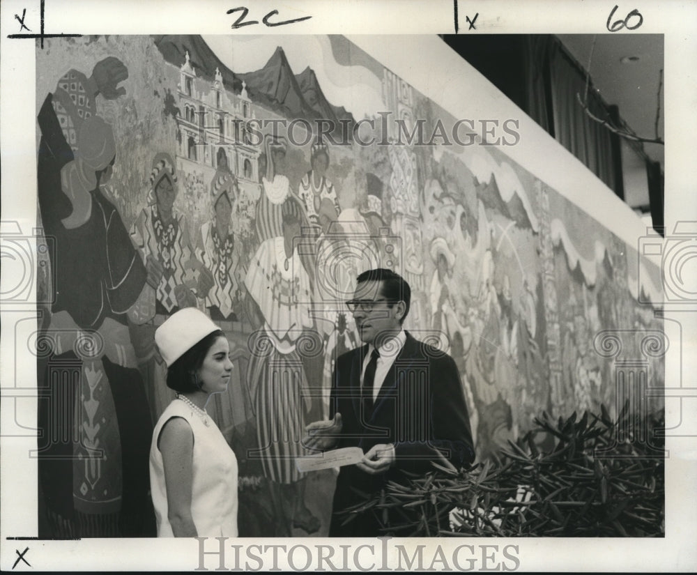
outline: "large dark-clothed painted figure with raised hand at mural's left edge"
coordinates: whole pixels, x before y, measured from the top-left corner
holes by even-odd
[[[118,84],[127,77],[114,57],[98,62],[90,77],[70,70],[38,114],[38,204],[56,245],[43,335],[51,345],[38,369],[45,369],[49,396],[38,411],[47,537],[138,537],[154,528],[143,442],[152,424],[127,327],[145,321],[152,289],[100,188],[112,174],[116,145],[111,126],[96,115],[96,97],[125,94]]]

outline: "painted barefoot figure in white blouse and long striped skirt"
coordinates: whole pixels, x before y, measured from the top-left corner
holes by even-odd
[[[295,462],[304,452],[300,438],[310,408],[301,391],[308,384],[298,344],[313,325],[306,305],[312,301],[309,275],[293,241],[303,221],[298,200],[287,198],[281,216],[282,236],[259,246],[245,278],[250,317],[260,328],[250,346],[247,381],[259,440],[250,459],[261,459],[269,482],[277,517],[273,535],[289,536],[291,525],[312,533],[320,523],[305,507],[305,477]]]

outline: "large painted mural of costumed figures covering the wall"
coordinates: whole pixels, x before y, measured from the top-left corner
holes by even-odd
[[[209,41],[37,51],[39,223],[56,238],[38,421],[61,422],[40,443],[43,536],[155,535],[149,436],[171,390],[153,334],[181,307],[230,342],[208,411],[239,461],[242,536],[327,532],[335,475],[292,457],[360,345],[344,302],[367,268],[407,279],[406,328],[454,358],[478,457],[542,410],[615,408],[595,335],[661,328],[638,303],[659,271],[634,247],[496,146],[405,143],[392,122],[361,145],[361,119],[431,134],[455,118],[342,36]]]

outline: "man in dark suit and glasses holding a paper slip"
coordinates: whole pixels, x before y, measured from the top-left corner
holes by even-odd
[[[358,276],[353,312],[366,344],[337,359],[332,420],[307,426],[305,445],[315,450],[360,447],[364,457],[337,477],[330,537],[383,535],[373,512],[342,525],[340,513],[372,497],[404,471],[427,473],[431,461],[464,466],[475,458],[470,422],[454,360],[402,328],[411,289],[391,270]]]

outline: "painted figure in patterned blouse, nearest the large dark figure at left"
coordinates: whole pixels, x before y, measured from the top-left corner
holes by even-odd
[[[196,307],[193,290],[197,286],[213,284],[210,271],[194,256],[185,217],[174,209],[177,192],[174,162],[168,153],[158,153],[150,174],[148,206],[130,229],[132,243],[148,270],[148,282],[155,289],[151,321],[131,333],[144,372],[153,420],[160,417],[173,397],[164,383],[164,364],[155,353],[155,329],[178,309]]]

